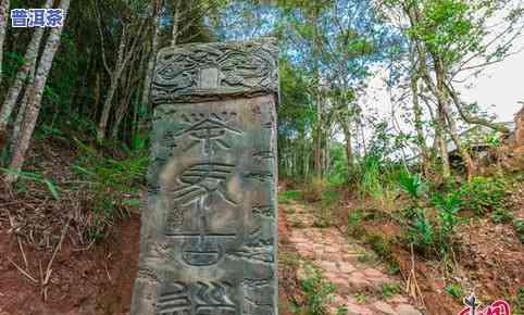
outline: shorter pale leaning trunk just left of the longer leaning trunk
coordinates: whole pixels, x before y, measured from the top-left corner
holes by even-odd
[[[51,8],[52,3],[53,3],[52,0],[46,0],[46,4],[43,5],[43,8],[49,9]],[[37,62],[38,51],[40,48],[41,38],[43,37],[43,30],[45,30],[43,27],[35,28],[24,55],[24,64],[22,64],[18,72],[16,73],[16,77],[14,78],[13,84],[9,88],[8,94],[3,102],[2,110],[0,111],[0,137],[2,138],[5,135],[5,129],[8,128],[11,113],[13,112],[13,108],[16,101],[18,100],[20,92],[24,87],[24,84],[28,77],[28,74],[33,73],[36,68],[36,62]],[[4,143],[5,141],[3,140],[0,142]]]

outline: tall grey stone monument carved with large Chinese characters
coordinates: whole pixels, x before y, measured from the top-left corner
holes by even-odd
[[[134,315],[277,315],[277,47],[160,51]]]

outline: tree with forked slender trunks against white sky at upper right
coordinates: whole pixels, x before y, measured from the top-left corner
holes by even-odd
[[[484,70],[511,53],[514,39],[522,34],[523,8],[508,10],[495,32],[490,23],[504,13],[507,1],[482,0],[387,0],[389,15],[399,14],[400,28],[413,48],[410,76],[412,92],[428,106],[435,106],[435,143],[440,151],[442,175],[449,176],[446,134],[456,143],[471,176],[476,172],[475,161],[460,139],[460,121],[508,131],[500,124],[477,115],[457,92],[460,75]],[[419,79],[423,88],[413,89]],[[454,109],[453,109],[454,106]],[[414,106],[416,108],[416,105]]]

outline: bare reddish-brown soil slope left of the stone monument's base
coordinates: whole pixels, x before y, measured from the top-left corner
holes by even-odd
[[[139,217],[115,226],[105,241],[89,251],[75,251],[67,239],[58,253],[43,301],[42,288],[9,262],[23,267],[16,237],[0,227],[0,315],[126,314],[137,272]],[[29,273],[40,281],[51,253],[25,247]]]

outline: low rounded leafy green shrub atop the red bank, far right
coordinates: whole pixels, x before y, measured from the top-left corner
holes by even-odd
[[[495,177],[473,177],[459,190],[462,207],[476,215],[504,209],[506,182]]]

